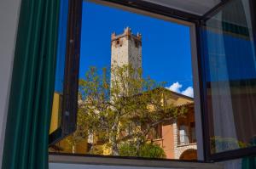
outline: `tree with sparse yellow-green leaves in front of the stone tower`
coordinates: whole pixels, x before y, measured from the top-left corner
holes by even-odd
[[[107,68],[90,67],[80,79],[79,112],[89,134],[105,140],[112,155],[119,155],[119,144],[128,141],[134,142],[138,155],[152,128],[176,119],[185,110],[167,104],[165,83],[143,78],[141,69],[123,65],[113,66],[111,72],[110,80]]]

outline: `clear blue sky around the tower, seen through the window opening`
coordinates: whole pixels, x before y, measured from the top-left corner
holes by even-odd
[[[80,78],[91,65],[110,66],[111,33],[125,27],[143,35],[143,74],[182,93],[192,87],[189,27],[84,2]],[[178,82],[178,83],[177,83]]]

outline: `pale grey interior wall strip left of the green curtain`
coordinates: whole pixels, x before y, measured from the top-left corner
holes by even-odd
[[[0,1],[0,168],[19,14],[20,0]]]

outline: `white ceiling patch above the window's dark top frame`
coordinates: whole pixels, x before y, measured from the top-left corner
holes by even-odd
[[[203,15],[220,3],[220,0],[143,0],[162,6],[175,8],[190,14]]]

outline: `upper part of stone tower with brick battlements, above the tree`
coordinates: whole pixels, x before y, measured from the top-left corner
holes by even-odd
[[[142,35],[132,34],[131,28],[126,27],[124,32],[111,36],[111,67],[131,65],[134,70],[142,68]],[[111,71],[111,79],[114,72]]]

